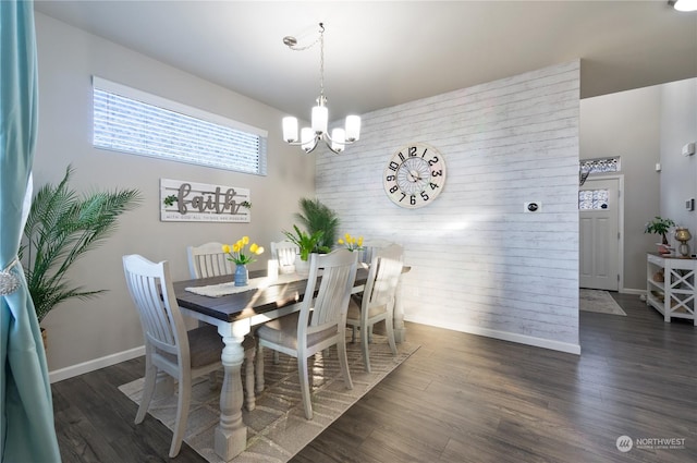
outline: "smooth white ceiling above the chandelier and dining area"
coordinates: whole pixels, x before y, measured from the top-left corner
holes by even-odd
[[[588,98],[697,76],[667,1],[35,1],[35,10],[309,118],[323,22],[330,119],[582,60]]]

